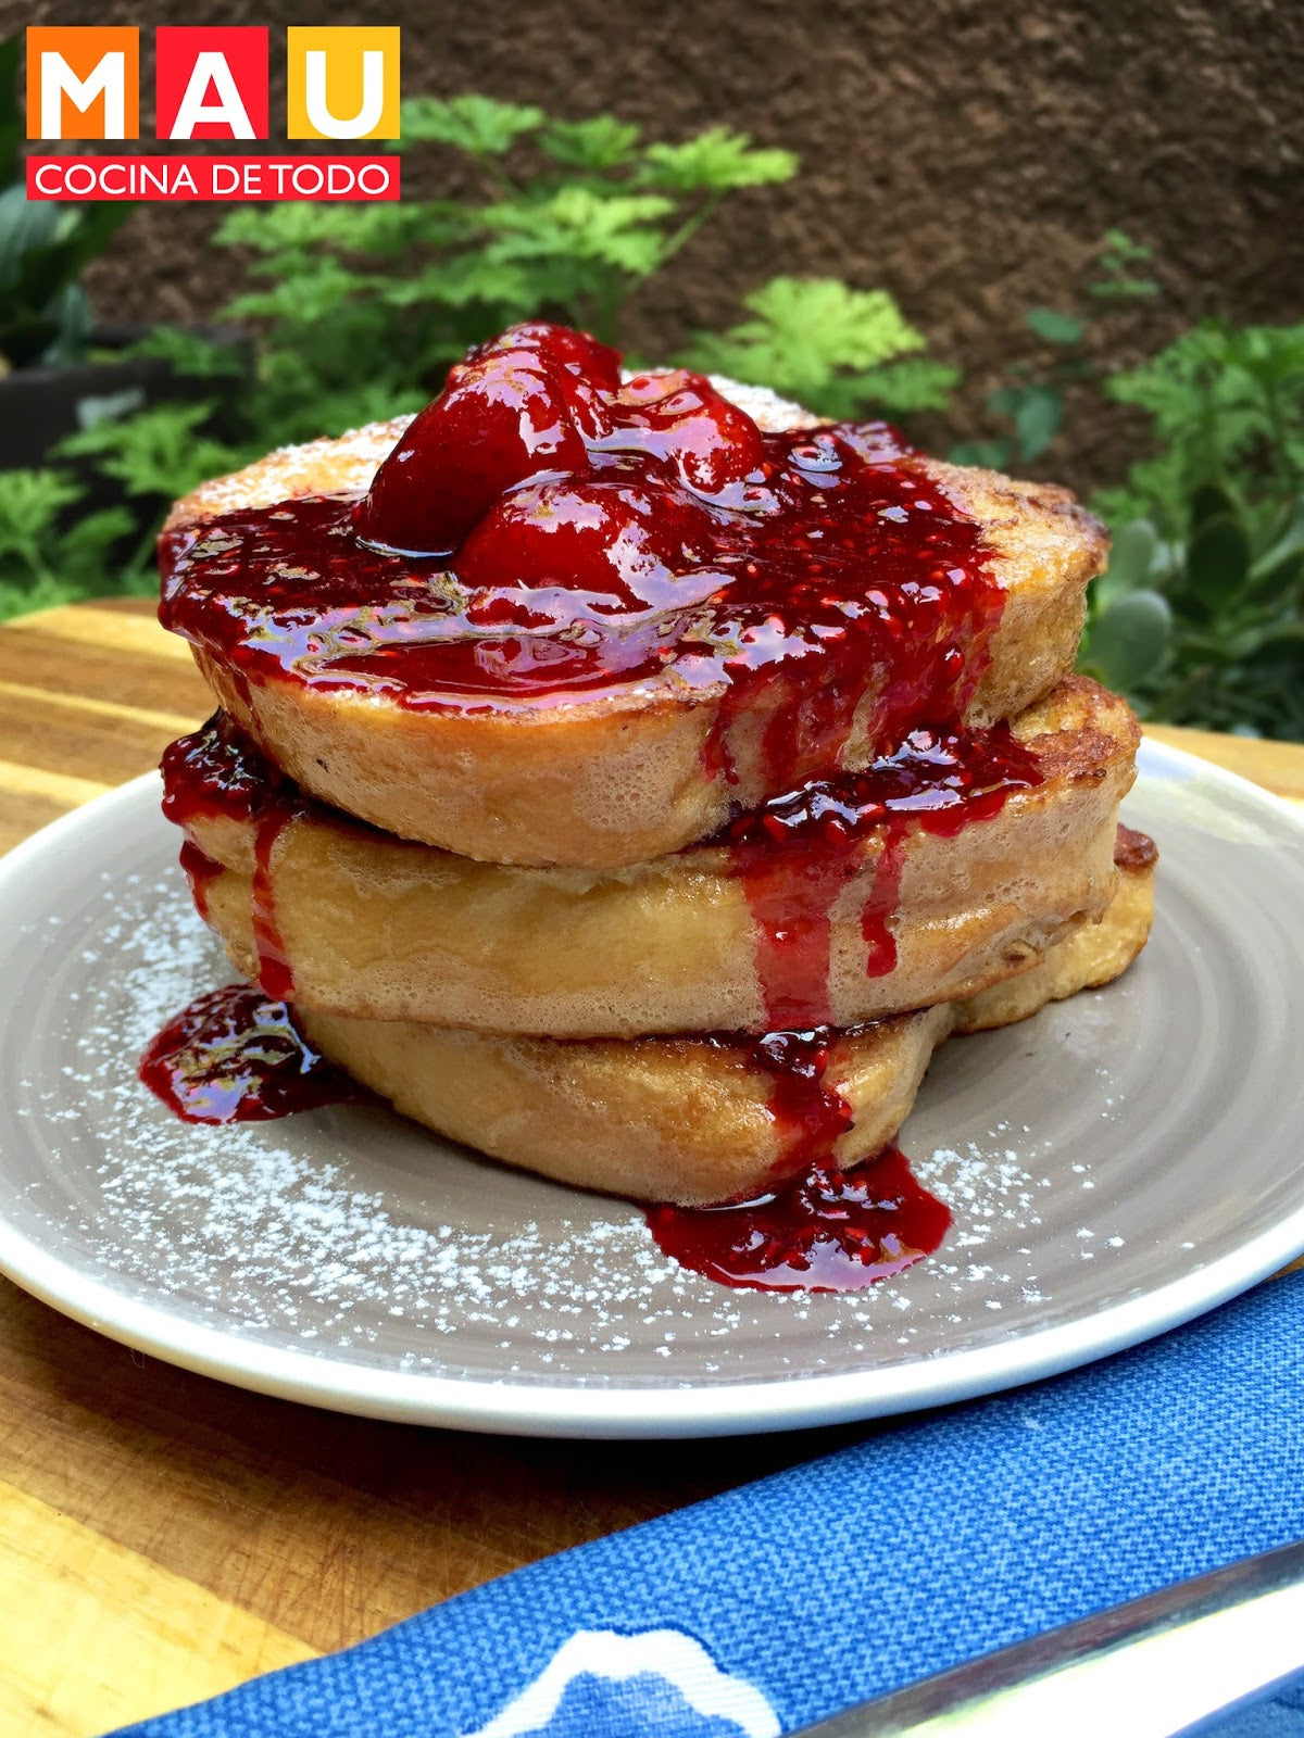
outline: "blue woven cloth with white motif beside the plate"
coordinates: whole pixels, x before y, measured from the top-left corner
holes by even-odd
[[[134,1738],[779,1738],[1304,1538],[1304,1274],[530,1564]],[[1127,1717],[1120,1712],[1120,1738]],[[1304,1688],[1219,1735],[1301,1738]]]

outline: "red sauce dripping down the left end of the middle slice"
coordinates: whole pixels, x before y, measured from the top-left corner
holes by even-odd
[[[257,980],[273,1001],[287,1001],[294,994],[294,973],[276,925],[271,853],[296,815],[308,812],[308,799],[226,713],[214,713],[202,730],[170,742],[163,751],[162,773],[163,813],[179,827],[190,827],[198,817],[254,824],[250,918]],[[181,846],[181,867],[190,879],[195,907],[207,918],[209,885],[223,872],[223,866],[188,836]]]

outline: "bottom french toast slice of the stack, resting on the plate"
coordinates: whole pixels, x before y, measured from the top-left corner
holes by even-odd
[[[1144,947],[1151,911],[1153,848],[1134,848],[1123,853],[1104,918],[1080,925],[1022,977],[972,1001],[835,1034],[824,1085],[854,1112],[836,1144],[842,1164],[894,1138],[948,1032],[1007,1025],[1108,984]],[[770,1109],[772,1076],[756,1065],[755,1041],[574,1043],[315,1008],[299,1008],[299,1022],[318,1050],[407,1116],[581,1189],[706,1204],[746,1196],[808,1161]]]

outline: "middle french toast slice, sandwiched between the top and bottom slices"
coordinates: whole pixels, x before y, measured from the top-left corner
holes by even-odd
[[[271,925],[303,1008],[556,1038],[850,1025],[970,996],[1109,902],[1135,718],[1074,676],[1015,720],[1014,739],[1041,782],[1012,789],[998,813],[949,838],[897,815],[899,857],[894,824],[831,857],[789,853],[786,867],[765,846],[765,902],[756,857],[723,845],[589,872],[475,862],[315,803],[290,819],[273,812],[271,833],[266,817],[203,810],[186,831],[221,866],[200,869],[196,890],[247,977],[259,972],[261,855],[264,940]],[[777,951],[781,982],[763,947],[775,886],[784,918],[817,923],[821,902],[828,912],[814,952],[786,965]],[[869,975],[864,925],[876,902],[895,958]]]

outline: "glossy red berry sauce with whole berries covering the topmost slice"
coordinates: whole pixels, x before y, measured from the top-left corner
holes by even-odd
[[[711,693],[708,773],[748,711],[765,791],[854,730],[873,753],[958,723],[1003,593],[920,455],[882,422],[763,434],[704,375],[619,365],[542,322],[471,349],[367,495],[169,532],[163,626],[236,681],[410,709]]]

